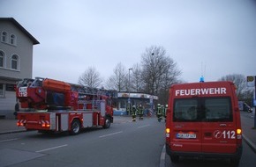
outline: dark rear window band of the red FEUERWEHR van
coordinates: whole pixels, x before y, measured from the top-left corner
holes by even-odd
[[[232,121],[230,98],[182,98],[174,102],[173,121]]]

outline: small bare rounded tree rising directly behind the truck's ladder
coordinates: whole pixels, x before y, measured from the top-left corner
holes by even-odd
[[[102,84],[102,78],[100,73],[94,67],[89,67],[81,76],[79,76],[79,84],[91,88],[98,88]]]

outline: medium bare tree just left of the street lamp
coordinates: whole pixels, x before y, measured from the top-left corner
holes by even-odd
[[[113,71],[114,75],[110,76],[106,83],[107,88],[117,91],[127,91],[127,72],[124,65],[119,62]]]

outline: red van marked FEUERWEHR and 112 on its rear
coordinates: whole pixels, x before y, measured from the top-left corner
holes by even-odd
[[[231,82],[175,84],[169,90],[166,151],[179,156],[230,158],[242,155],[242,129],[236,86]]]

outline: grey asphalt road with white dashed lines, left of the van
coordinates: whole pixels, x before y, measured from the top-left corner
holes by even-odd
[[[0,166],[159,166],[164,123],[156,119],[118,120],[109,129],[79,135],[35,131],[0,136]]]

